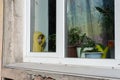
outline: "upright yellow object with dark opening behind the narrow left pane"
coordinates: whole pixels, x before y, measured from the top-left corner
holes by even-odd
[[[42,36],[41,42],[39,38]],[[44,51],[43,45],[45,44],[45,36],[41,32],[34,32],[33,35],[33,52]]]

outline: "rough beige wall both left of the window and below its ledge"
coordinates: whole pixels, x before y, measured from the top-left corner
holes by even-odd
[[[25,0],[4,0],[4,45],[3,63],[4,65],[22,62],[23,54],[23,35],[24,35],[24,1]],[[7,73],[7,74],[6,74]],[[12,74],[11,74],[12,73]],[[28,74],[27,74],[28,73]],[[36,72],[19,71],[15,69],[3,69],[2,77],[15,80],[23,80],[19,76],[34,75]],[[99,80],[95,78],[84,78],[67,75],[57,75],[48,73],[37,73],[36,75],[52,77],[56,80]],[[102,80],[102,79],[101,79]]]

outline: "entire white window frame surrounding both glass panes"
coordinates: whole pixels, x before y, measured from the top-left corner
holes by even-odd
[[[25,36],[23,62],[102,66],[111,69],[120,66],[120,0],[115,0],[115,59],[65,58],[65,0],[57,0],[57,46],[56,53],[30,52],[30,0],[26,0]]]

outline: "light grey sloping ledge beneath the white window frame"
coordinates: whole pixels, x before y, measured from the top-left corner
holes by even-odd
[[[34,70],[38,72],[64,74],[94,78],[114,78],[120,79],[120,69],[109,67],[92,67],[77,65],[57,65],[57,64],[38,64],[38,63],[15,63],[5,66],[12,69]]]

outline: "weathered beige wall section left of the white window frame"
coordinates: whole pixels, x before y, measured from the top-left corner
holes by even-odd
[[[4,0],[4,64],[22,62],[24,1]]]

